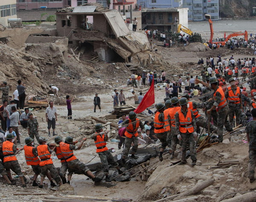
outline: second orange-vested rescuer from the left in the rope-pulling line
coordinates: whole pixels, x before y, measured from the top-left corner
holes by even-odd
[[[33,184],[32,186],[38,186],[38,183],[36,183],[36,179],[38,175],[41,173],[41,168],[40,168],[40,159],[38,158],[38,153],[34,147],[34,139],[31,137],[26,137],[25,139],[25,144],[23,149],[25,153],[25,159],[26,159],[26,164],[31,165],[31,168],[33,169],[33,172],[35,173],[33,176]],[[51,182],[51,186],[55,187],[55,183],[52,181],[52,177],[47,171],[46,173],[47,178]]]

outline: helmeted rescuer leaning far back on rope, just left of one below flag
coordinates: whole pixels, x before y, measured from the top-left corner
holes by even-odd
[[[106,141],[108,141],[108,131],[103,132],[101,124],[95,125],[95,131],[96,133],[93,134],[91,138],[94,139],[95,146],[97,148],[96,153],[99,154],[99,158],[102,162],[103,171],[106,176],[105,180],[107,182],[111,182],[111,179],[108,176],[108,163],[117,169],[118,174],[123,174],[123,172],[120,170],[118,163],[115,161],[111,152],[106,147]]]

